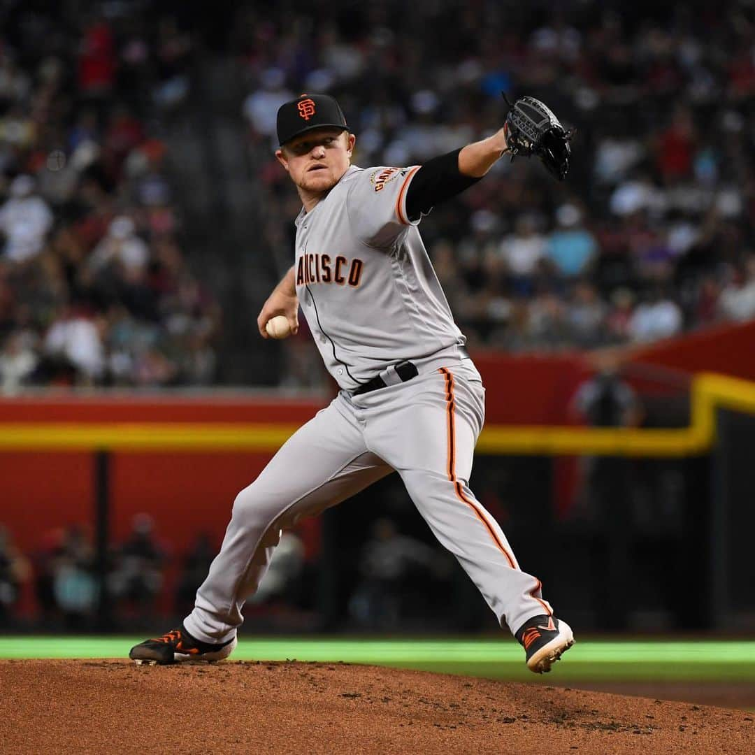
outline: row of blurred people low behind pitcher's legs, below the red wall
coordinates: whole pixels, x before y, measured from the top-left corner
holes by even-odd
[[[353,575],[344,596],[344,621],[356,630],[399,630],[444,615],[436,599],[454,581],[454,562],[437,543],[402,532],[396,519],[381,517],[350,554]],[[319,529],[282,533],[263,580],[245,614],[257,630],[298,630],[318,625]],[[217,544],[199,533],[185,553],[159,532],[146,513],[134,516],[131,532],[110,547],[105,578],[89,528],[73,524],[42,533],[23,553],[0,525],[0,630],[20,622],[46,630],[88,630],[100,620],[104,587],[111,627],[153,623],[154,616],[182,618],[194,606]],[[439,587],[433,596],[428,584]],[[23,593],[26,590],[26,600]]]

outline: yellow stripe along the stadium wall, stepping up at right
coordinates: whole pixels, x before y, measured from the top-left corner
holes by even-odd
[[[755,414],[755,383],[718,374],[692,382],[692,424],[678,430],[488,425],[477,451],[507,455],[688,456],[715,440],[716,410]],[[0,451],[256,451],[296,430],[277,423],[2,423]]]

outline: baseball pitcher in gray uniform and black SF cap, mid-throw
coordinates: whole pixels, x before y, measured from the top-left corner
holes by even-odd
[[[285,103],[277,127],[276,157],[303,206],[294,264],[257,325],[262,337],[296,332],[300,307],[341,390],[236,497],[220,553],[180,629],[147,639],[130,657],[226,658],[281,530],[396,470],[430,529],[522,644],[527,666],[550,670],[574,643],[572,630],[470,490],[485,389],[418,226],[506,153],[538,156],[563,179],[570,134],[543,103],[522,97],[491,137],[424,165],[358,168],[356,137],[332,97]]]

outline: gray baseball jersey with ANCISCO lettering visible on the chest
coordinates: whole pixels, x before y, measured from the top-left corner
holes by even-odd
[[[465,343],[406,192],[418,170],[352,167],[296,219],[296,288],[322,359],[353,390],[403,359],[451,356]]]

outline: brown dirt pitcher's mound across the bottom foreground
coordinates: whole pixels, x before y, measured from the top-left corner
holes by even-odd
[[[2,753],[751,753],[753,717],[347,664],[0,661]]]

